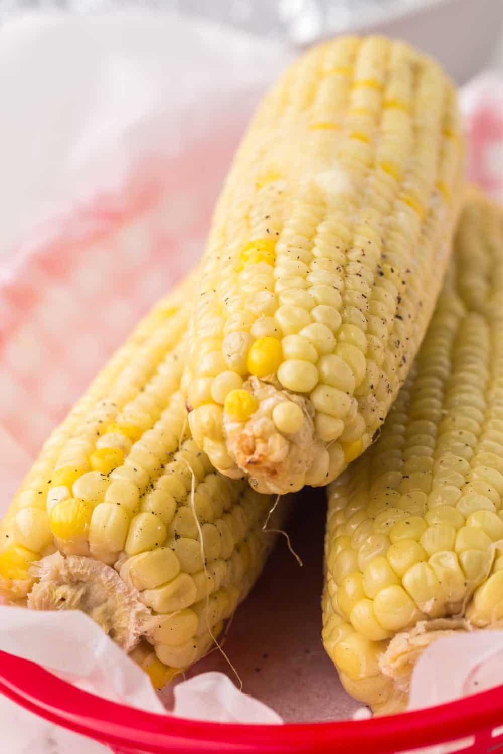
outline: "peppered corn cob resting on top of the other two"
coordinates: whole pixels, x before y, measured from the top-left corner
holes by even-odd
[[[260,492],[333,480],[409,371],[464,164],[433,60],[337,38],[265,97],[216,207],[182,381],[213,466]]]

